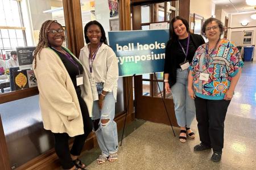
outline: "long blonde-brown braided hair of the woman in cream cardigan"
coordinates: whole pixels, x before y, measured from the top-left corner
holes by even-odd
[[[48,43],[47,32],[49,30],[49,26],[53,22],[60,24],[56,20],[46,20],[46,22],[44,22],[41,26],[40,33],[39,33],[39,42],[38,42],[38,45],[36,45],[35,54],[34,54],[34,59],[35,59],[35,68],[34,69],[36,69],[36,55],[37,54],[39,55],[43,48],[47,48],[48,46],[51,46]],[[60,26],[61,26],[61,24],[60,24]],[[39,59],[40,59],[40,56],[39,56]]]

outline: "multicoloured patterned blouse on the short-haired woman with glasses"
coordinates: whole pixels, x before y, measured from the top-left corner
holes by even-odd
[[[238,73],[238,68],[243,66],[243,62],[238,49],[229,40],[221,39],[213,52],[209,50],[208,58],[206,46],[207,43],[197,48],[189,67],[193,76],[193,89],[196,96],[203,99],[222,100],[232,77]],[[209,74],[208,80],[200,80],[200,73]]]

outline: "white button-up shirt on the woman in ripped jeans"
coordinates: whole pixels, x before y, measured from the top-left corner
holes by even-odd
[[[110,46],[102,43],[96,57],[92,63],[92,73],[89,67],[89,49],[85,45],[81,51],[79,59],[85,66],[85,69],[91,78],[92,76],[97,83],[104,82],[104,91],[113,92],[117,100],[117,80],[118,80],[118,60]]]

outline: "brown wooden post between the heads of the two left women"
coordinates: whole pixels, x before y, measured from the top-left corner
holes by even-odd
[[[84,47],[80,0],[63,0],[63,9],[68,49],[79,58],[80,49]]]

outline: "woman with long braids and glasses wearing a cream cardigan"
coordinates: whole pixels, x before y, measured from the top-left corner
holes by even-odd
[[[64,40],[63,27],[56,20],[44,22],[33,69],[44,129],[51,130],[55,137],[55,151],[63,169],[85,169],[78,156],[92,131],[93,96],[88,74],[81,62],[61,46]],[[75,137],[71,151],[69,137]]]

